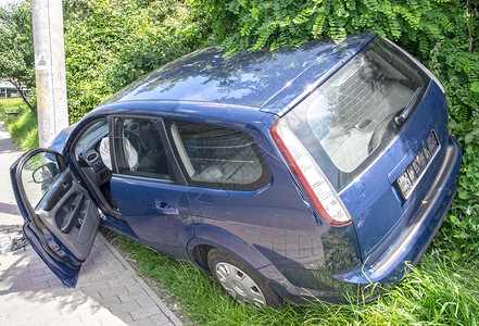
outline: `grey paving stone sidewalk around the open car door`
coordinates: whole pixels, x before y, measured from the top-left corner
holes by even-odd
[[[23,224],[9,175],[21,154],[0,122],[0,325],[181,325],[100,234],[74,289],[30,246],[9,250]]]

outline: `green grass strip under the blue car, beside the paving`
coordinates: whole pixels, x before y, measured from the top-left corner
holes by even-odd
[[[140,275],[161,284],[198,325],[476,325],[479,316],[478,264],[448,260],[444,252],[426,254],[401,284],[368,304],[315,306],[286,304],[256,310],[229,299],[212,276],[119,237],[124,251],[140,264]]]

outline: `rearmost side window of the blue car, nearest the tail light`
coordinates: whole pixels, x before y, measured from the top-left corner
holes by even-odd
[[[245,133],[182,121],[171,121],[167,129],[193,186],[253,190],[270,178],[257,145]]]

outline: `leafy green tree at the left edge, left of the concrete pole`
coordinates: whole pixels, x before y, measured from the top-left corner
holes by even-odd
[[[29,0],[0,5],[0,78],[12,83],[34,114],[25,88],[35,87],[35,57]]]

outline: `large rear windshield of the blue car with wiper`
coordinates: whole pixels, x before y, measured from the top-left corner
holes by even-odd
[[[398,134],[425,82],[406,55],[377,38],[286,120],[339,190]]]

